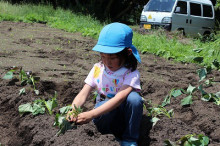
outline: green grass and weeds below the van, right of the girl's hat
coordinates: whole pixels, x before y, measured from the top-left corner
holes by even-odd
[[[153,34],[134,34],[134,45],[142,52],[149,52],[166,59],[174,59],[183,63],[198,63],[201,66],[220,69],[220,34],[216,34],[215,41],[201,42],[200,38],[178,39],[175,33],[168,39],[165,34],[155,31]],[[186,40],[183,42],[182,40]]]

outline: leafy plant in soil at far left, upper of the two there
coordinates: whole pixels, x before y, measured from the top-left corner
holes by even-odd
[[[17,75],[17,76],[16,76]],[[13,78],[19,79],[22,86],[31,85],[34,92],[38,95],[39,91],[36,89],[36,82],[40,80],[40,77],[33,76],[31,71],[25,72],[22,67],[13,67],[3,77],[3,79],[11,80]],[[25,88],[22,88],[19,94],[24,94]]]

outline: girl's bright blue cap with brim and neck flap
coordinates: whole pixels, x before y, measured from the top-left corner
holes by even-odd
[[[138,62],[141,63],[140,55],[134,45],[132,45],[133,31],[122,23],[111,23],[106,25],[99,34],[99,39],[93,51],[115,54],[121,52],[126,47],[132,49],[132,53]]]

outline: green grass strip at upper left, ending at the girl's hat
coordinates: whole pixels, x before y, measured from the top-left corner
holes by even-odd
[[[74,14],[70,10],[54,10],[52,6],[45,5],[11,5],[7,2],[0,2],[0,21],[46,23],[50,27],[81,32],[82,35],[95,39],[103,27],[103,24],[93,17]]]

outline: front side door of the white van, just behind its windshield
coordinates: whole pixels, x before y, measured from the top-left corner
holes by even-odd
[[[186,1],[177,1],[172,15],[172,27],[171,31],[183,30],[184,33],[188,33],[188,5]]]

